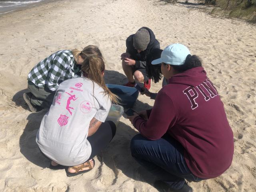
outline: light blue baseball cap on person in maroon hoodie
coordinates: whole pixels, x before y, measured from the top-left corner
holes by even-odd
[[[179,43],[171,44],[164,48],[161,58],[152,61],[152,65],[160,63],[183,65],[188,54],[190,54],[190,51],[186,46]]]

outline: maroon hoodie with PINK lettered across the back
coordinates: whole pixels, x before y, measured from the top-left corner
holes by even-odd
[[[133,125],[149,140],[166,133],[178,140],[188,168],[199,178],[220,176],[232,162],[233,132],[202,67],[172,76],[158,92],[149,119],[138,116]]]

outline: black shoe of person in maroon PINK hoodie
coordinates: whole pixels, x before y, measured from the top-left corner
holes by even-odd
[[[157,180],[154,183],[154,187],[160,191],[160,192],[193,192],[193,189],[188,186],[188,184],[185,182],[182,188],[180,189],[172,189],[166,182]]]

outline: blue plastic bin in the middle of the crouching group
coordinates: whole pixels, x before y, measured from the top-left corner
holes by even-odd
[[[106,84],[109,90],[120,97],[119,100],[121,106],[124,108],[132,108],[136,102],[139,92],[136,88],[126,87],[122,85]]]

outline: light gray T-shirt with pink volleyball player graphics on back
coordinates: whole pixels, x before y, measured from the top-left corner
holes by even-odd
[[[88,78],[62,82],[36,135],[40,150],[61,165],[84,163],[92,152],[87,140],[90,121],[105,122],[110,107],[103,88]]]

